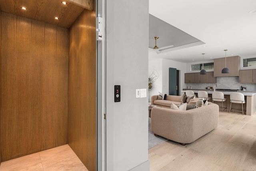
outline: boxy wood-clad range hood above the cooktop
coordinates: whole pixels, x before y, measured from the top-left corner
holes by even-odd
[[[229,73],[222,74],[222,69],[225,68],[225,58],[214,59],[214,77],[232,77],[239,76],[240,56],[232,56],[226,58],[226,68]]]

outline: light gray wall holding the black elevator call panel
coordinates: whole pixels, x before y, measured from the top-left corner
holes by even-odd
[[[121,101],[114,103],[114,85]],[[106,170],[149,170],[148,0],[106,1]]]

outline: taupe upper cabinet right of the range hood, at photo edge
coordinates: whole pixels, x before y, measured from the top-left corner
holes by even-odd
[[[240,83],[256,83],[256,70],[240,70]]]

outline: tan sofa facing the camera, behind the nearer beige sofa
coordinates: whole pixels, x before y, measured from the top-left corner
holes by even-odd
[[[181,97],[179,95],[166,95],[166,100],[163,99],[158,99],[158,95],[152,95],[151,96],[151,105],[157,105],[160,107],[165,107],[165,108],[170,108],[171,103],[174,103],[175,105],[180,105],[181,104]],[[198,101],[198,97],[194,99],[190,99],[188,104],[196,103]]]

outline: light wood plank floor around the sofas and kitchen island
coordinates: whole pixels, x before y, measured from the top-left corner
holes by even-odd
[[[220,112],[210,133],[185,146],[165,141],[148,158],[150,171],[256,171],[256,115]]]

